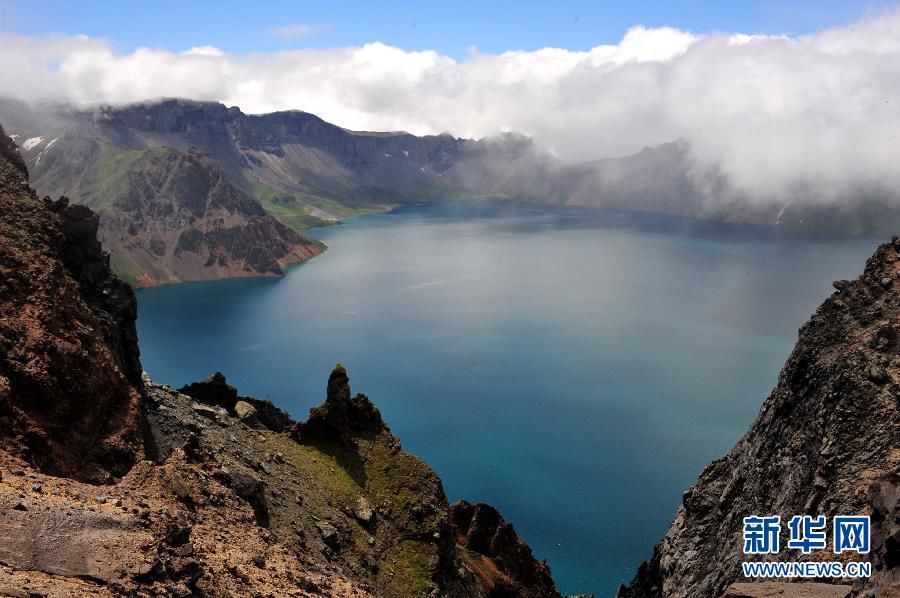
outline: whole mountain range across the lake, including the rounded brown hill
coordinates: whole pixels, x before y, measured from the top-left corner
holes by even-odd
[[[410,202],[491,199],[856,234],[891,230],[880,196],[750,201],[682,142],[564,162],[532,139],[350,131],[301,111],[168,99],[74,108],[0,100],[37,192],[100,214],[113,266],[140,286],[280,275],[323,251],[311,226]]]

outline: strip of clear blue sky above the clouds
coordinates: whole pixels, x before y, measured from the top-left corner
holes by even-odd
[[[31,36],[86,34],[118,51],[149,46],[173,51],[213,45],[232,53],[333,48],[381,41],[433,49],[460,59],[481,52],[573,50],[618,42],[637,24],[694,33],[807,33],[854,20],[893,2],[859,0],[572,2],[199,2],[155,0],[0,0],[0,28]],[[312,35],[285,39],[271,30],[307,25]]]

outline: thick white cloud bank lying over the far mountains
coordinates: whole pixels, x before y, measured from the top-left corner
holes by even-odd
[[[533,136],[593,160],[676,139],[750,197],[900,189],[900,10],[804,36],[634,27],[615,45],[462,61],[373,42],[231,55],[0,36],[0,89],[34,100],[216,100],[356,130]]]

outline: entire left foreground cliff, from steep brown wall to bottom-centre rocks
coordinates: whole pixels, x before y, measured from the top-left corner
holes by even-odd
[[[499,515],[460,527],[342,367],[300,423],[221,374],[142,375],[98,223],[0,131],[0,594],[558,596]]]

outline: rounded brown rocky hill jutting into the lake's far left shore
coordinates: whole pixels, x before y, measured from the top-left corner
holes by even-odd
[[[267,214],[197,150],[126,152],[110,174],[83,187],[98,210],[113,264],[142,286],[283,274],[322,251]]]

